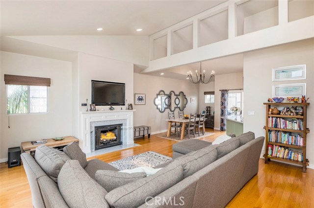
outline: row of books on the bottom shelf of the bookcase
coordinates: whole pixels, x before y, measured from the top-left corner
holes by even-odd
[[[271,148],[268,145],[268,156],[282,158],[286,160],[303,162],[303,153],[297,152],[292,149],[288,149],[287,147],[282,147],[279,145],[271,145]]]

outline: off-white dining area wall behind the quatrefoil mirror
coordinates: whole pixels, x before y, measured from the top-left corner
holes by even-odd
[[[198,94],[199,86],[192,84],[187,80],[169,79],[158,76],[134,73],[134,93],[146,94],[146,105],[133,105],[134,126],[148,125],[152,127],[152,133],[164,132],[168,128],[167,109],[164,113],[160,113],[154,105],[156,94],[163,90],[166,93],[174,91],[179,93],[183,91],[188,99],[184,114],[195,114],[198,110]],[[195,97],[195,103],[190,103],[190,98]],[[134,103],[134,97],[131,99]],[[175,117],[178,117],[178,110],[175,111]]]

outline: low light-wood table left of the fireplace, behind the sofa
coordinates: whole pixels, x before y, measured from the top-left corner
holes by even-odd
[[[22,142],[22,148],[25,152],[31,154],[31,152],[36,150],[36,147],[39,147],[41,145],[46,145],[50,147],[61,147],[66,146],[73,141],[78,142],[78,139],[75,137],[64,137],[64,139],[62,140],[47,139],[47,142],[43,144],[31,144],[30,141],[26,141]]]

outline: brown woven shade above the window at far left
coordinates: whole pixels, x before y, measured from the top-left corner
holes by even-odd
[[[50,87],[50,78],[4,74],[4,83],[6,85],[30,85]]]

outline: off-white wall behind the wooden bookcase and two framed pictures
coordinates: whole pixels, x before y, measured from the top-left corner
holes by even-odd
[[[298,41],[247,52],[244,54],[244,132],[252,131],[256,137],[265,136],[265,106],[267,98],[272,97],[272,85],[307,83],[307,97],[314,97],[314,39]],[[272,82],[272,69],[293,65],[306,64],[306,79]],[[311,102],[311,99],[309,100]],[[247,116],[254,111],[254,116]],[[308,108],[307,126],[313,131],[314,110]],[[314,168],[314,134],[307,135],[307,158]],[[264,148],[263,148],[264,150]]]

